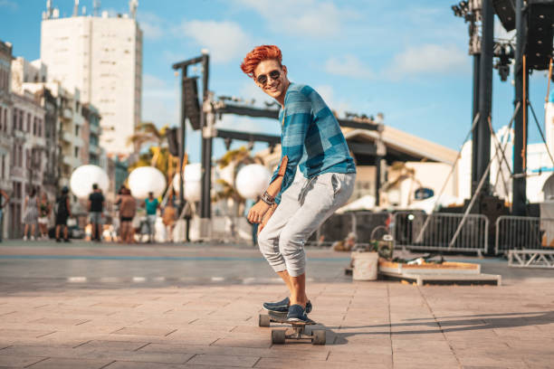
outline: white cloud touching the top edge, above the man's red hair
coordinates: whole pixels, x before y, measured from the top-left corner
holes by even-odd
[[[315,38],[336,36],[343,24],[358,14],[319,0],[235,0],[257,11],[274,32]]]

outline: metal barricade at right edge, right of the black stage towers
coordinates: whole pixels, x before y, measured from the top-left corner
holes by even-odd
[[[549,245],[552,244],[553,246]],[[554,250],[554,219],[502,215],[496,220],[494,251]]]

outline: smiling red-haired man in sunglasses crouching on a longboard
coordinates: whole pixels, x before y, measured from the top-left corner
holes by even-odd
[[[287,312],[289,321],[307,321],[311,304],[304,242],[349,200],[356,166],[339,122],[315,90],[288,80],[277,46],[254,48],[241,69],[282,107],[282,163],[248,220],[261,223],[260,250],[286,283],[290,298],[263,307]],[[297,166],[303,177],[292,183]]]

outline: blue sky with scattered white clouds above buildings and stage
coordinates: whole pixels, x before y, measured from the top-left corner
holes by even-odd
[[[451,4],[452,3],[452,4]],[[102,0],[103,10],[128,13],[128,0]],[[458,149],[471,126],[472,57],[467,24],[440,0],[139,0],[144,32],[142,118],[158,126],[178,123],[176,61],[210,52],[210,90],[269,100],[240,70],[255,45],[277,44],[292,81],[309,84],[331,109],[385,115],[385,124]],[[0,0],[0,39],[14,55],[40,57],[45,0]],[[72,14],[73,0],[53,0]],[[91,13],[92,0],[81,0]],[[498,24],[497,36],[506,34]],[[191,71],[194,74],[194,71]],[[510,77],[511,80],[512,76]],[[494,71],[492,123],[506,125],[513,86]],[[547,77],[535,71],[530,100],[544,124]],[[279,134],[277,122],[228,116],[221,128]],[[530,120],[530,143],[540,142]],[[187,151],[199,160],[197,132],[188,131]],[[244,143],[234,143],[234,147]],[[265,147],[257,144],[255,149]],[[215,140],[215,156],[224,153]]]

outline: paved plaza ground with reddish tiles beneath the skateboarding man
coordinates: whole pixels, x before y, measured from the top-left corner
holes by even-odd
[[[352,282],[348,253],[307,254],[327,345],[272,345],[258,315],[285,289],[250,247],[5,241],[0,367],[554,367],[554,270],[453,257],[502,286],[417,287]]]

